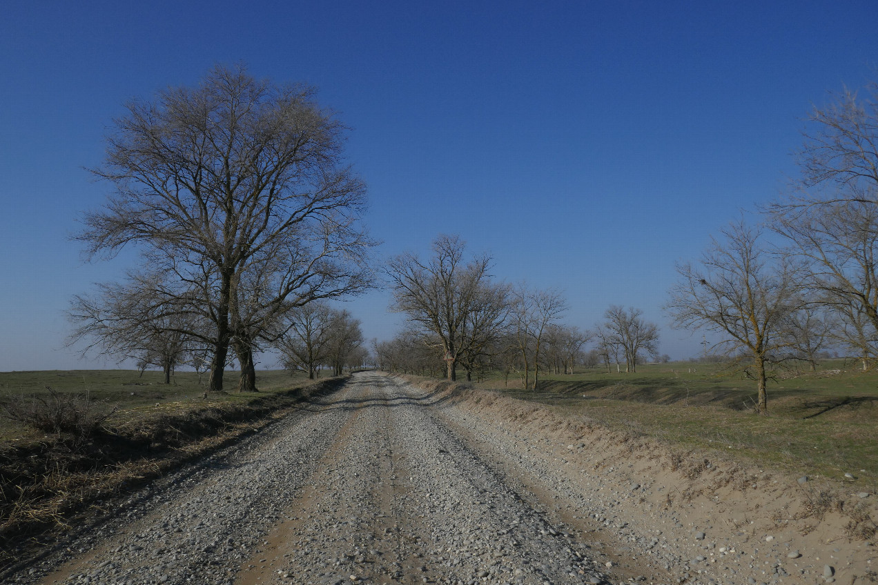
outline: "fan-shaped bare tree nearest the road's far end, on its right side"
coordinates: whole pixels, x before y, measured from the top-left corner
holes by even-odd
[[[434,339],[447,361],[449,380],[457,380],[457,361],[473,343],[464,337],[471,313],[489,282],[490,258],[464,260],[464,241],[440,235],[433,256],[422,261],[412,253],[392,258],[386,274],[393,290],[393,310],[405,313],[411,325]]]

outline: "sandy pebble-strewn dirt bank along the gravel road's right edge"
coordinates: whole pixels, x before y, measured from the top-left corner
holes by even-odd
[[[555,506],[558,517],[627,560],[626,577],[651,567],[651,576],[669,572],[681,582],[878,582],[874,494],[683,450],[493,391],[416,382],[441,389],[443,408],[479,429],[469,440],[494,460],[495,446],[514,442],[519,464],[507,471],[574,494],[579,505]]]

